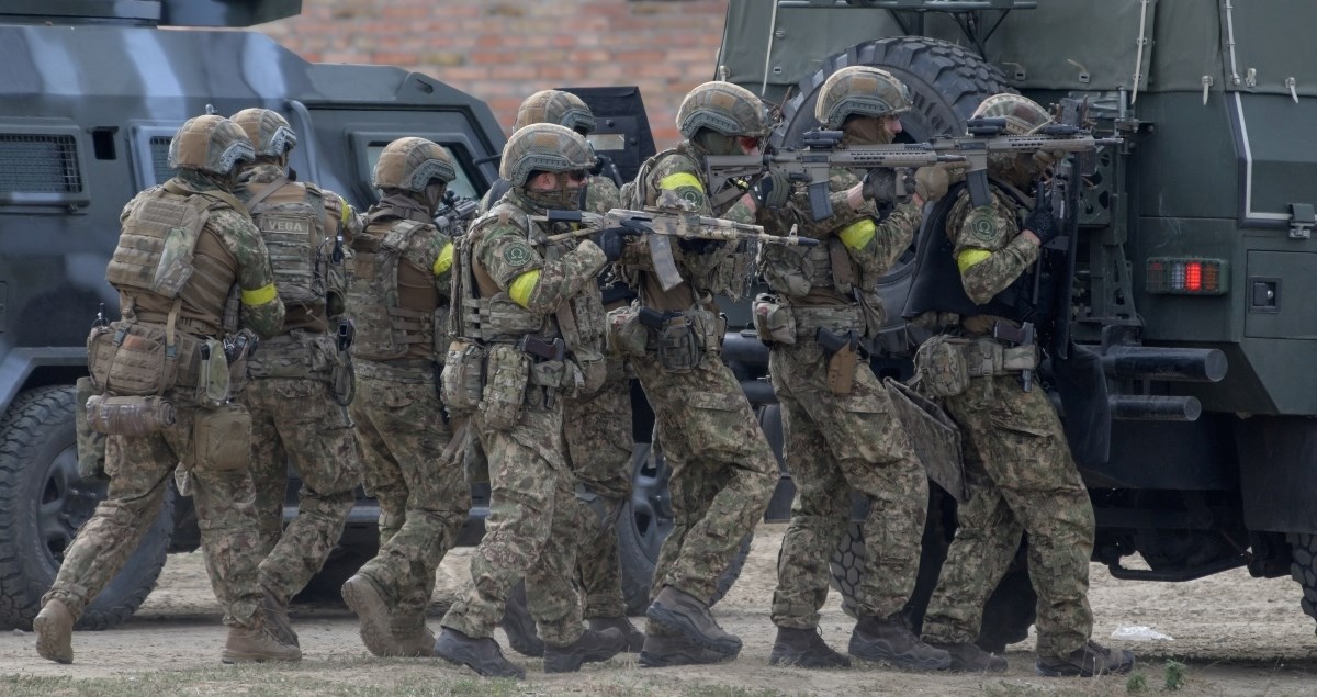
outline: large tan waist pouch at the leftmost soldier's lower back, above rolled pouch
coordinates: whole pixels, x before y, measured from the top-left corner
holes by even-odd
[[[87,335],[87,369],[96,389],[120,395],[162,394],[178,383],[179,349],[175,335],[166,347],[165,328],[116,321],[92,327]]]

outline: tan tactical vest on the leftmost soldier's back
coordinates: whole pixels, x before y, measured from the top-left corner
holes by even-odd
[[[202,319],[205,327],[194,333],[217,333],[224,302],[236,279],[219,260],[194,252],[211,213],[223,208],[246,215],[237,199],[219,190],[194,192],[166,182],[138,194],[121,216],[122,232],[105,269],[105,281],[134,310],[141,307],[140,300],[167,306],[141,298],[155,295],[174,300],[183,315]],[[142,319],[165,320],[153,315]]]

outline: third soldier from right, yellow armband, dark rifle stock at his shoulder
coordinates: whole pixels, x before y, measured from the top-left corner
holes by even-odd
[[[686,95],[677,128],[685,141],[649,158],[623,187],[627,207],[661,202],[751,221],[753,212],[738,208],[740,203],[730,206],[734,211],[711,208],[703,158],[757,152],[769,128],[764,105],[735,84],[705,83]],[[608,320],[615,336],[647,335],[627,360],[653,407],[656,437],[672,468],[673,530],[655,568],[640,665],[716,663],[735,657],[741,642],[714,621],[710,598],[777,482],[768,440],[736,377],[719,360],[726,320],[714,295],[740,291],[748,260],[735,245],[682,240],[674,250],[681,282],[664,290],[647,244],[630,244],[618,262],[639,300]],[[661,318],[662,329],[643,324],[643,315]]]

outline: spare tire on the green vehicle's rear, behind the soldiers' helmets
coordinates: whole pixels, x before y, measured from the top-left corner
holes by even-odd
[[[984,99],[1014,92],[1001,70],[955,43],[925,37],[867,41],[826,58],[817,72],[797,83],[795,96],[782,105],[782,123],[770,138],[774,146],[797,146],[807,130],[818,128],[814,104],[819,88],[832,72],[847,66],[881,67],[910,88],[914,105],[901,115],[905,132],[898,140],[903,142],[964,133],[965,121]],[[910,290],[917,242],[911,241],[878,281],[889,319],[877,344],[889,353],[914,349],[901,320],[901,308]]]

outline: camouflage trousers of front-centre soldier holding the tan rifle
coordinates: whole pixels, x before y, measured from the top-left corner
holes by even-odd
[[[585,513],[562,459],[562,403],[547,407],[539,387],[527,394],[512,428],[489,427],[479,411],[470,416],[473,435],[489,457],[490,515],[471,555],[471,585],[443,625],[468,636],[493,635],[508,593],[524,577],[540,639],[566,646],[585,631],[572,582]]]

